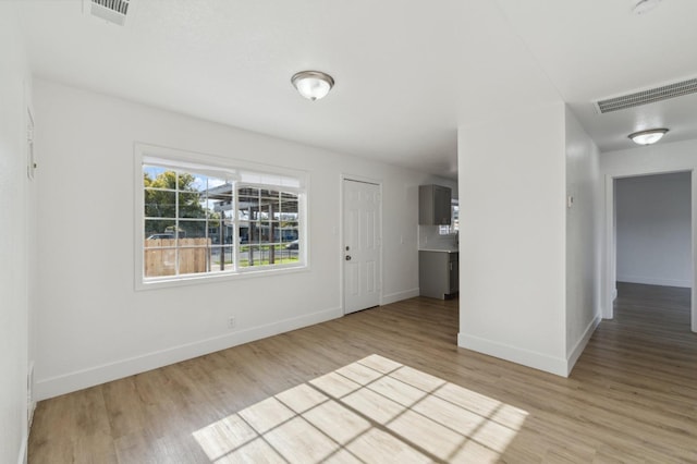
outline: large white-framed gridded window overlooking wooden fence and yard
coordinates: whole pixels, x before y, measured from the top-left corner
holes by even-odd
[[[304,174],[157,147],[136,156],[142,284],[305,266]]]

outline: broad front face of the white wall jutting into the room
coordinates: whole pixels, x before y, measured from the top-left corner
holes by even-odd
[[[458,344],[565,376],[565,107],[458,130]],[[505,134],[505,136],[502,136]]]

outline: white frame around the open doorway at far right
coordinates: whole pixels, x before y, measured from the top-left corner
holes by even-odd
[[[604,279],[602,279],[602,318],[612,319],[614,317],[613,303],[617,297],[616,276],[617,276],[617,249],[616,249],[616,202],[614,195],[615,179],[636,178],[641,175],[671,174],[675,172],[690,173],[690,227],[692,227],[692,291],[690,291],[690,329],[697,332],[697,254],[695,245],[697,244],[697,218],[695,211],[697,209],[697,171],[694,168],[684,169],[636,169],[627,170],[619,173],[606,174],[604,176]]]

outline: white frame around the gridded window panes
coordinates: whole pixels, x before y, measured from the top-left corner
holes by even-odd
[[[143,186],[143,167],[145,164],[161,166],[185,172],[227,175],[235,179],[233,183],[233,208],[235,227],[233,231],[234,270],[224,272],[200,272],[191,274],[145,277],[145,188]],[[182,284],[200,284],[220,282],[249,277],[277,276],[285,272],[307,271],[309,268],[308,235],[308,179],[306,171],[297,169],[271,167],[249,161],[218,157],[213,155],[180,150],[157,145],[136,143],[134,147],[135,181],[135,220],[134,220],[134,270],[135,289],[148,290]],[[237,267],[240,253],[240,228],[237,217],[239,185],[268,188],[297,194],[298,209],[298,261],[281,265],[261,265]]]

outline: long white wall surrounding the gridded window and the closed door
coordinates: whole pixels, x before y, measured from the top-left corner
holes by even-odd
[[[340,316],[342,174],[383,185],[382,301],[418,294],[418,185],[452,182],[47,81],[35,108],[40,398]],[[135,142],[308,171],[310,268],[134,291]]]

